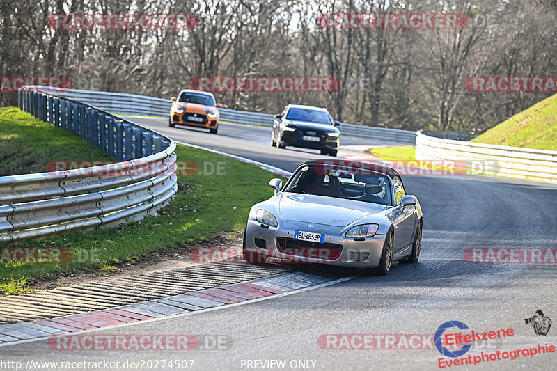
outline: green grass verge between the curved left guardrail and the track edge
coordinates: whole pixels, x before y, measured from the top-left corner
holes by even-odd
[[[158,216],[119,228],[75,230],[19,244],[18,247],[29,248],[68,248],[72,260],[59,264],[0,264],[0,292],[17,294],[29,290],[41,278],[61,273],[107,272],[116,269],[115,265],[133,264],[155,251],[226,232],[242,232],[251,205],[273,194],[267,183],[274,175],[258,166],[183,145],[178,145],[176,155],[178,161],[196,162],[200,170],[210,164],[208,169],[214,166],[221,171],[179,176],[178,196]]]

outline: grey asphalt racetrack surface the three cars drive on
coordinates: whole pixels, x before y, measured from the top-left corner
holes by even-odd
[[[169,129],[160,119],[134,120],[178,141],[289,171],[305,159],[320,157],[311,150],[271,148],[269,129],[262,127],[222,125],[215,136],[197,129]],[[378,144],[344,138],[339,152],[354,152],[366,142]],[[424,212],[422,254],[414,265],[394,264],[389,276],[356,276],[289,296],[95,332],[226,336],[232,341],[228,349],[63,352],[40,340],[0,347],[0,360],[119,361],[118,370],[130,369],[123,362],[140,358],[191,359],[191,370],[303,370],[290,367],[291,361],[294,365],[300,360],[311,360],[306,370],[439,370],[441,354],[436,349],[329,350],[321,349],[317,339],[331,333],[433,334],[452,320],[475,331],[514,329],[515,336],[475,345],[465,356],[556,345],[557,329],[535,336],[533,327],[524,324],[524,318],[538,309],[557,319],[556,265],[469,263],[463,256],[467,248],[478,247],[557,248],[557,185],[475,175],[406,176],[404,180],[407,192],[418,197]],[[285,360],[286,367],[255,368],[262,364],[248,363],[254,360]],[[450,369],[555,370],[556,361],[556,353],[521,355]],[[155,363],[146,369],[155,369]]]

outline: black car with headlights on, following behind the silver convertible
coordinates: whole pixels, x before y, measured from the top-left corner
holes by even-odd
[[[331,118],[327,109],[288,104],[274,117],[271,145],[313,148],[321,150],[321,155],[336,156],[340,123]]]

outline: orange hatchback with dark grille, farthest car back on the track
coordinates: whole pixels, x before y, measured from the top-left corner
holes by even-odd
[[[219,110],[222,104],[217,104],[214,95],[200,90],[185,89],[180,91],[178,100],[171,97],[170,118],[168,126],[188,125],[206,127],[211,134],[219,130]]]

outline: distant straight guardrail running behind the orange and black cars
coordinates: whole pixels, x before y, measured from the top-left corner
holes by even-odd
[[[111,112],[115,115],[161,116],[167,118],[170,114],[171,100],[145,97],[143,95],[126,93],[106,93],[91,90],[58,89],[60,97],[79,100]],[[228,123],[244,125],[273,126],[274,115],[234,109],[219,109],[220,119]],[[359,136],[369,139],[379,139],[391,143],[414,145],[416,132],[385,127],[372,127],[343,123],[340,133],[348,136]]]

